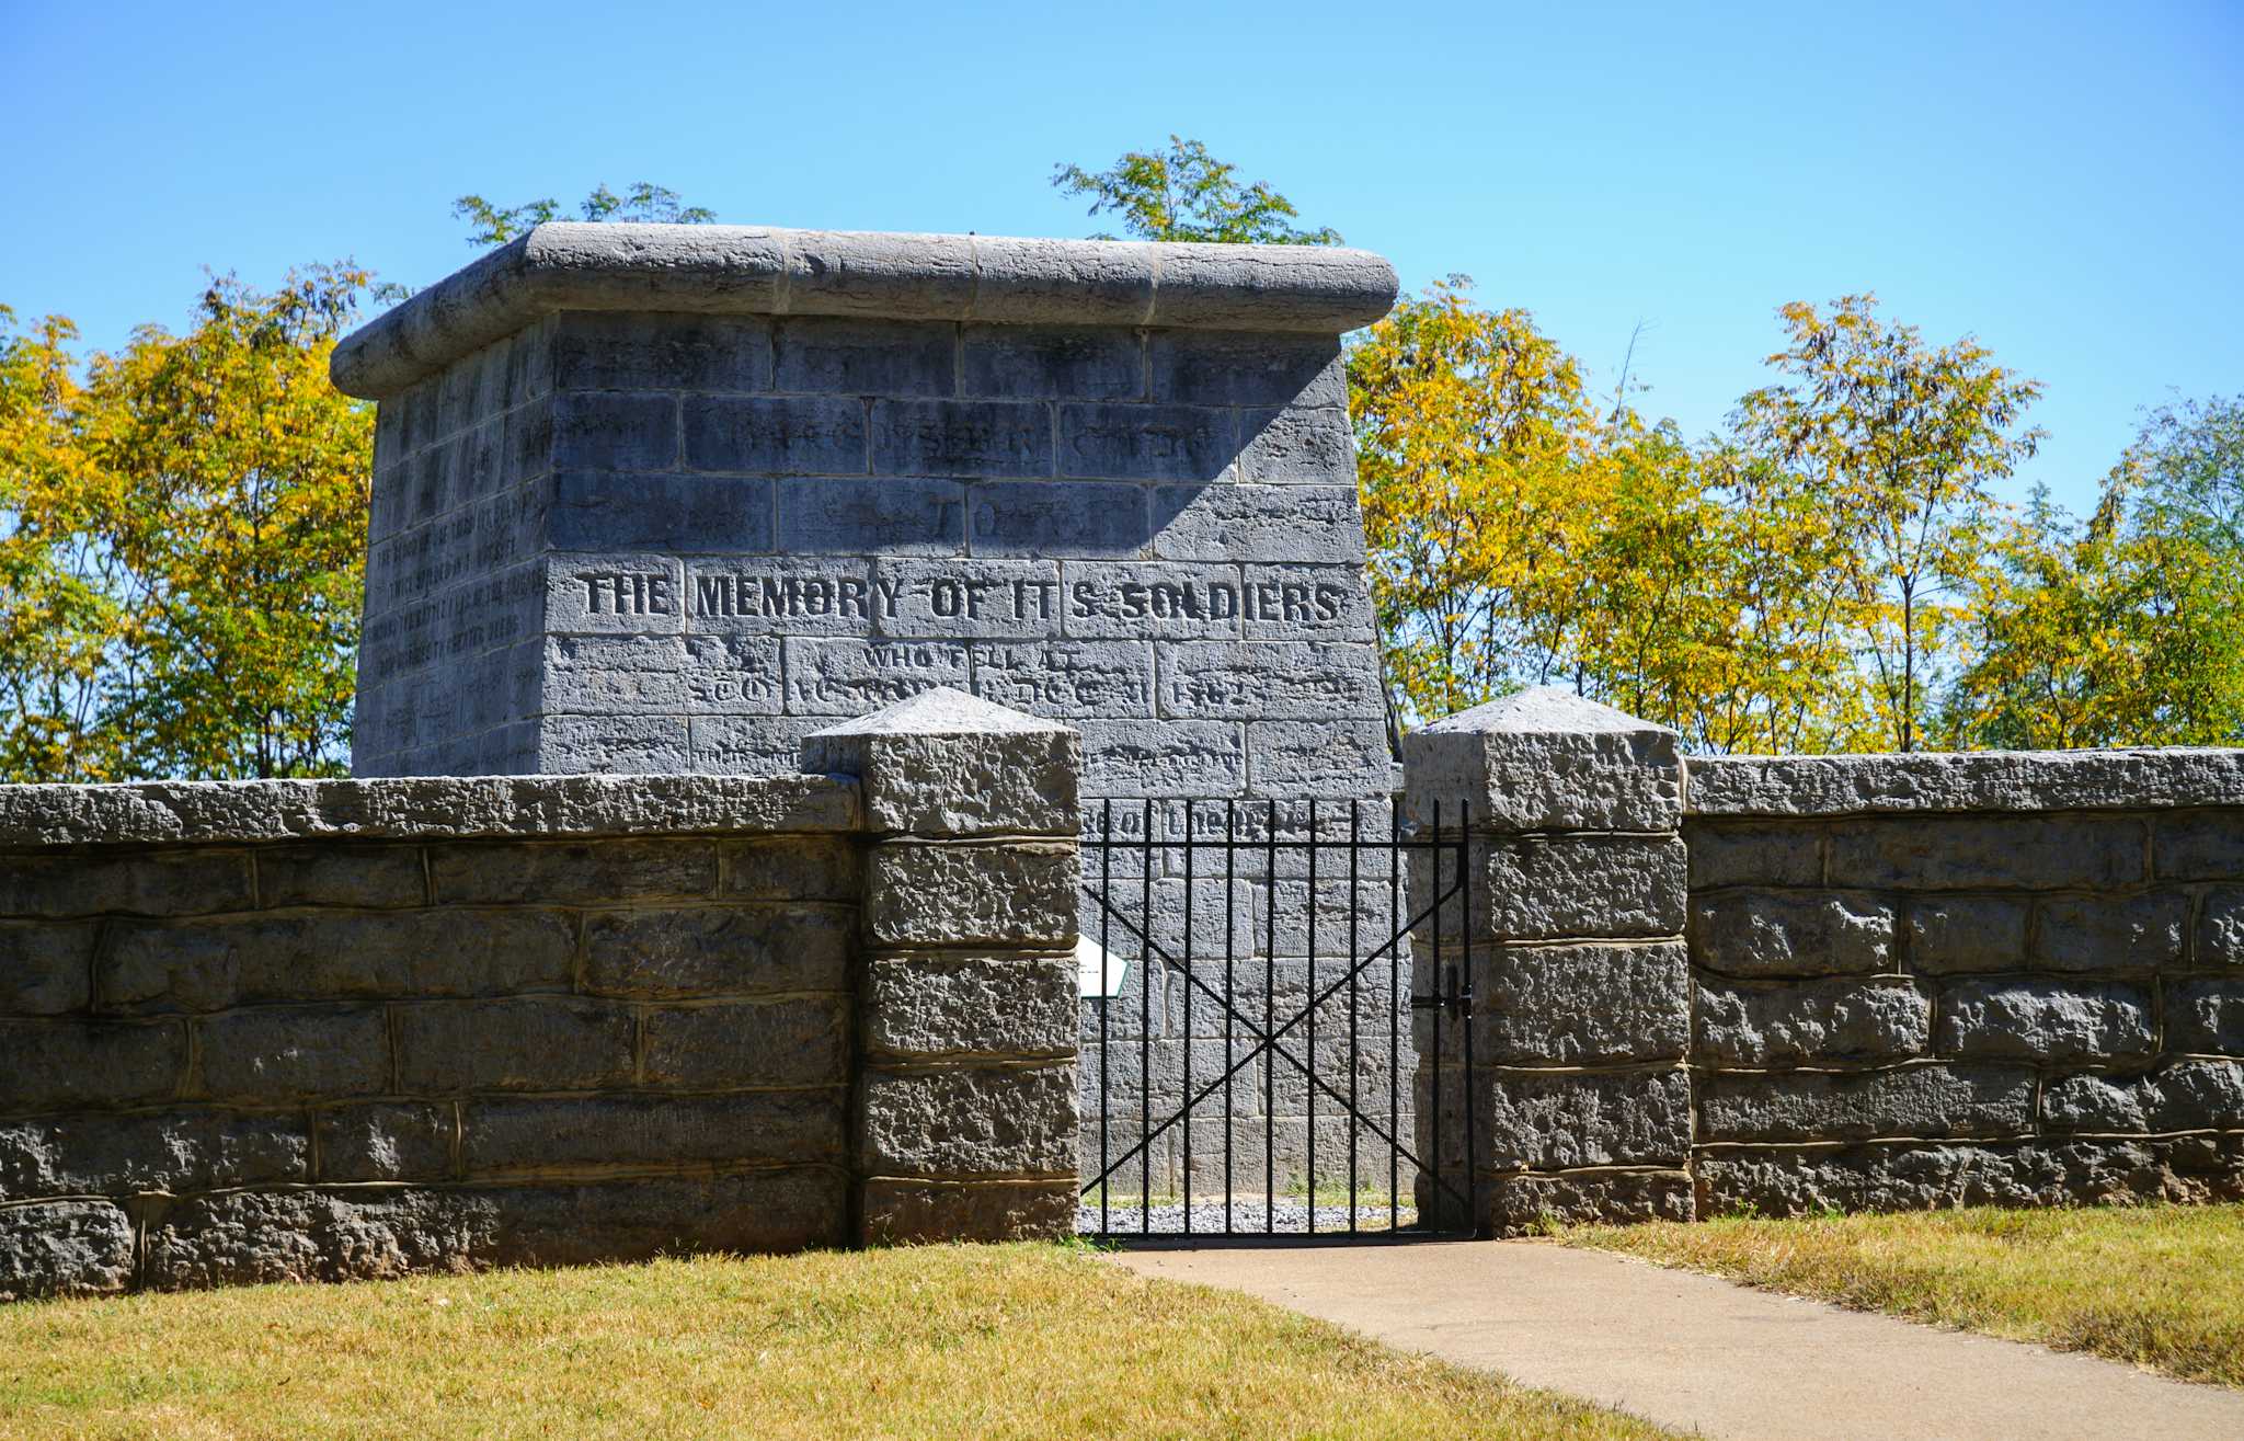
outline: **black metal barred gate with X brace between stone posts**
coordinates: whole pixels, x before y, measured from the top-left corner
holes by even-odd
[[[1295,801],[1281,813],[1232,799],[1109,799],[1088,819],[1084,940],[1097,985],[1084,988],[1077,1230],[1468,1232],[1472,1086],[1465,1125],[1445,1129],[1447,1086],[1420,1095],[1405,1075],[1420,1041],[1472,1068],[1463,824],[1443,828],[1438,806],[1407,828],[1400,806]],[[1414,931],[1432,943],[1423,965]],[[1414,994],[1420,985],[1427,994]]]

